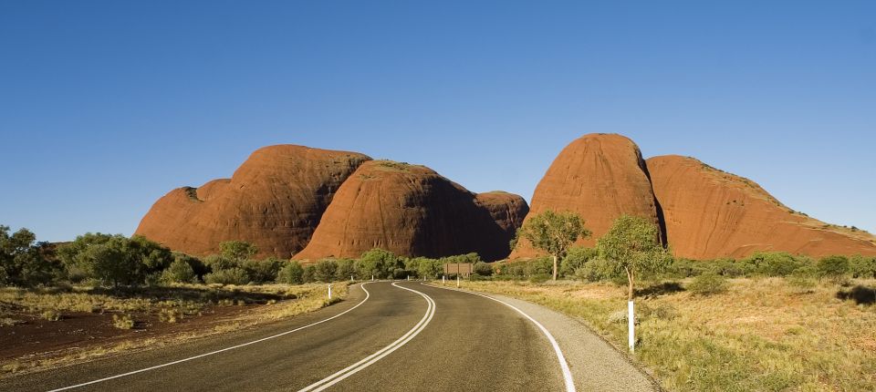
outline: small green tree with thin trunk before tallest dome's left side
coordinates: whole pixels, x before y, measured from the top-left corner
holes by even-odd
[[[523,227],[517,229],[512,246],[523,238],[535,248],[549,253],[554,259],[553,279],[556,281],[559,259],[566,255],[572,243],[589,235],[590,231],[584,227],[578,214],[547,210],[527,219]]]

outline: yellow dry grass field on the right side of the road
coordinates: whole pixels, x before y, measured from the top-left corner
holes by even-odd
[[[873,285],[873,281],[856,282]],[[625,288],[579,282],[465,282],[578,316],[619,347]],[[837,298],[840,286],[803,292],[782,278],[735,279],[725,294],[637,299],[633,359],[668,390],[876,390],[876,306]]]

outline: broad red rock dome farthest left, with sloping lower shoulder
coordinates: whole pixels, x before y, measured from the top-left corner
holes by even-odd
[[[240,240],[255,243],[259,256],[287,258],[307,245],[341,183],[366,160],[295,145],[255,150],[230,180],[170,191],[135,233],[195,255]]]

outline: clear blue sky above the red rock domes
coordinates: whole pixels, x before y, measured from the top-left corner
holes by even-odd
[[[279,143],[529,199],[618,132],[876,232],[876,2],[586,3],[0,0],[0,224],[130,234]]]

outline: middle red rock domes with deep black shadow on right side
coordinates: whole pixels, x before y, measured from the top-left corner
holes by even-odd
[[[478,197],[424,166],[372,160],[341,185],[294,258],[352,258],[381,248],[402,256],[475,252],[498,260],[509,252],[525,205],[515,195]]]

